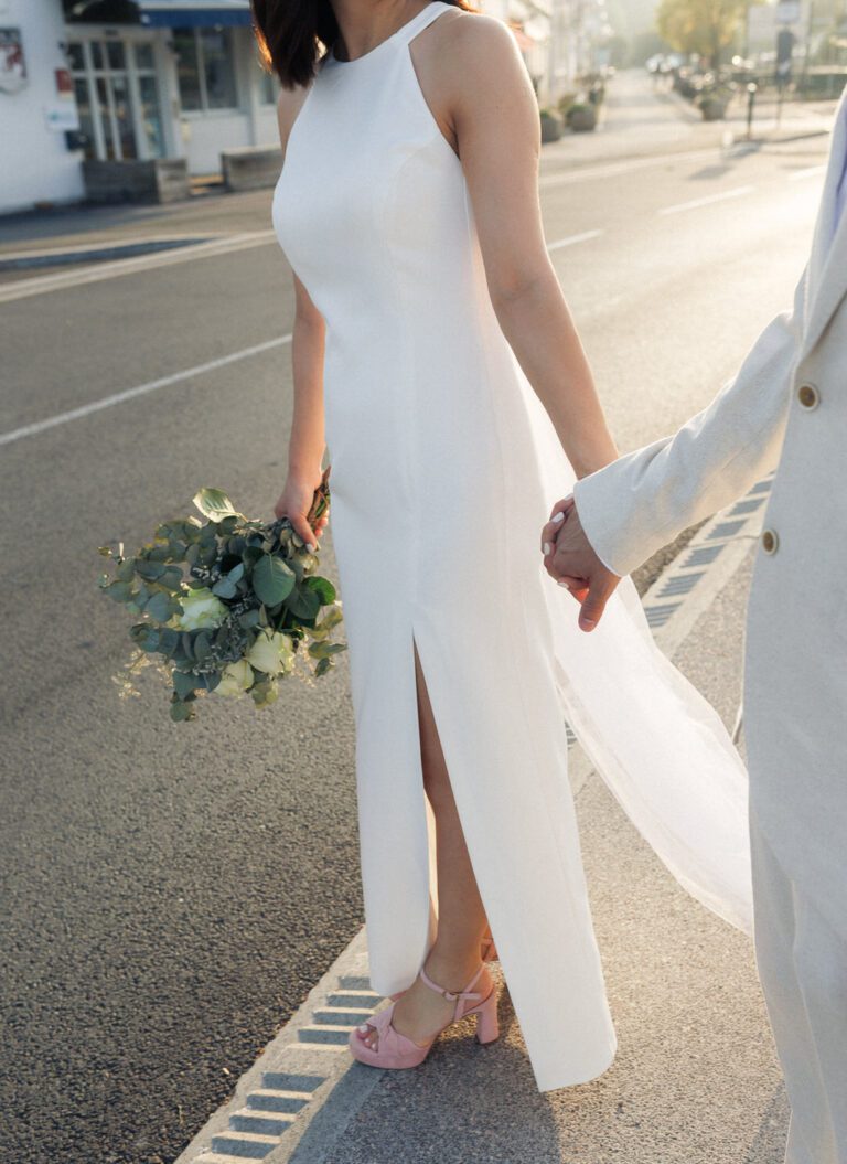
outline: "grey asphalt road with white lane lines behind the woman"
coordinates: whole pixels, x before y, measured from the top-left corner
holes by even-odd
[[[672,106],[643,102],[628,161],[611,132],[610,159],[598,135],[583,165],[563,141],[542,178],[547,237],[621,448],[705,405],[790,301],[827,147],[725,155],[683,133]],[[671,139],[675,152],[649,156]],[[269,201],[58,215],[51,232],[0,226],[0,241],[259,232]],[[95,589],[95,547],[144,540],[200,484],[270,511],[287,346],[61,419],[291,324],[268,242],[0,301],[0,1155],[15,1164],[171,1161],[361,923],[343,666],[314,690],[292,683],[269,712],[209,703],[173,725],[152,676],[143,698],[119,698],[124,619]],[[330,545],[326,556],[332,572]]]

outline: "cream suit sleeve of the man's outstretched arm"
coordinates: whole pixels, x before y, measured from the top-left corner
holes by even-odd
[[[805,272],[793,310],[762,332],[731,381],[676,435],[576,483],[577,511],[608,569],[629,574],[689,525],[776,468],[799,357]]]

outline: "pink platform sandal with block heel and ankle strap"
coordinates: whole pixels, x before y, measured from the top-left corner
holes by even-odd
[[[391,1020],[394,1014],[394,1003],[392,1002],[392,1005],[386,1007],[385,1010],[380,1010],[378,1015],[373,1016],[373,1018],[370,1018],[366,1023],[362,1023],[361,1027],[357,1027],[356,1030],[351,1031],[350,1051],[353,1057],[358,1059],[360,1063],[366,1063],[372,1067],[390,1067],[397,1070],[417,1067],[429,1055],[439,1035],[446,1031],[451,1023],[458,1022],[460,1018],[467,1018],[468,1015],[476,1015],[477,1042],[483,1044],[493,1043],[500,1034],[500,1024],[497,1017],[497,988],[492,984],[491,989],[484,998],[481,993],[474,993],[474,987],[478,982],[479,975],[484,970],[485,964],[483,963],[465,988],[460,991],[457,994],[446,991],[443,986],[439,986],[432,980],[432,978],[429,978],[425,970],[421,970],[421,981],[428,986],[430,991],[435,991],[436,994],[441,994],[442,998],[456,1003],[453,1018],[444,1023],[441,1030],[437,1030],[433,1037],[421,1046],[420,1043],[413,1042],[413,1039],[401,1035],[392,1027]],[[375,1030],[379,1036],[379,1043],[376,1048],[368,1046],[364,1042],[371,1030]]]

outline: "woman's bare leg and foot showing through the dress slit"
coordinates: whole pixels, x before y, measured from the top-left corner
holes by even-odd
[[[461,991],[479,968],[479,944],[487,931],[487,921],[417,651],[414,663],[424,787],[435,816],[439,879],[439,927],[426,968],[439,986]],[[485,977],[479,981],[483,992],[487,985]],[[450,1020],[453,1009],[454,1003],[417,980],[397,1002],[393,1025],[414,1042],[426,1043]],[[365,1042],[376,1046],[376,1032],[371,1031]]]

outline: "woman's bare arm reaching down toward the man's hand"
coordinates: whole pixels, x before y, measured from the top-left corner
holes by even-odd
[[[526,68],[512,34],[489,16],[442,17],[433,31],[415,42],[415,66],[464,170],[497,318],[575,473],[588,476],[617,449],[544,244]]]

